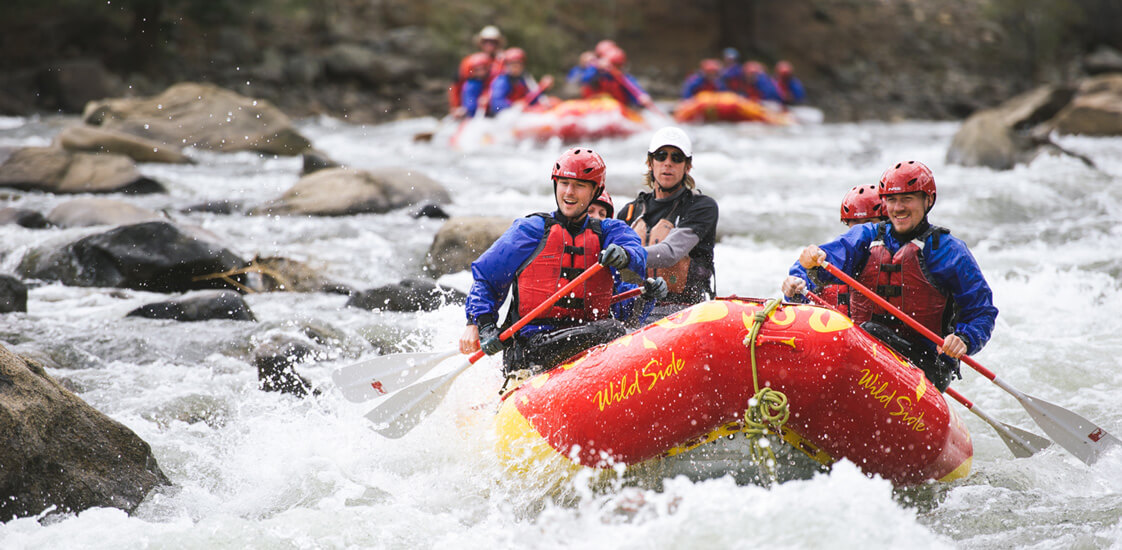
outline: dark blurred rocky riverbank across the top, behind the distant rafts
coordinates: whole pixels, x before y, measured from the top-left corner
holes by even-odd
[[[1122,49],[1122,7],[1105,0],[1023,7],[1036,13],[953,0],[548,1],[540,13],[398,0],[247,0],[219,11],[200,0],[61,2],[68,9],[0,8],[0,114],[79,112],[90,100],[196,81],[293,117],[439,117],[472,33],[491,22],[527,49],[537,75],[560,76],[581,49],[615,38],[664,99],[725,46],[769,64],[787,58],[830,121],[959,119],[1094,72],[1087,55],[1103,46]]]

